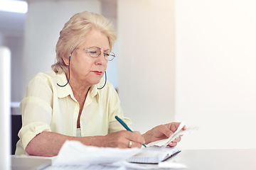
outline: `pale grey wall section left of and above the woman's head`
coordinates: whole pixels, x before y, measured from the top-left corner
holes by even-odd
[[[28,2],[23,65],[23,94],[28,81],[38,72],[47,72],[55,61],[55,45],[64,24],[75,13],[100,13],[100,0]]]

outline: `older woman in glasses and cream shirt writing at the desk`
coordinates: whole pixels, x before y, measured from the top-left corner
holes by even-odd
[[[114,118],[131,124],[112,84],[101,81],[107,62],[114,58],[114,40],[112,24],[100,14],[77,13],[65,23],[52,70],[36,74],[21,101],[16,154],[52,157],[65,140],[96,147],[142,147],[176,131],[179,123],[169,123],[141,135],[125,130]]]

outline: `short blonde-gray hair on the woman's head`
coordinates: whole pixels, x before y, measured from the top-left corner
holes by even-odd
[[[54,72],[68,73],[68,67],[65,65],[63,57],[68,58],[92,29],[100,30],[102,34],[106,35],[110,42],[110,50],[112,49],[114,41],[117,39],[112,23],[98,13],[87,11],[76,13],[60,31],[56,45],[55,64],[52,65]]]

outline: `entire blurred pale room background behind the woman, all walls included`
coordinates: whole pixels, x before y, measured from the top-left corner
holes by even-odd
[[[181,149],[256,148],[256,1],[29,0],[0,11],[0,46],[11,50],[11,114],[28,81],[55,61],[64,23],[101,13],[117,30],[107,75],[132,129],[171,121],[199,130]]]

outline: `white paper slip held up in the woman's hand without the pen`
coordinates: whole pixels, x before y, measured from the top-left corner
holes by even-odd
[[[151,147],[151,146],[166,147],[167,145],[169,145],[169,143],[171,141],[175,140],[176,137],[178,137],[180,135],[188,134],[188,133],[193,132],[195,130],[198,130],[198,128],[186,128],[185,130],[182,130],[182,128],[184,126],[185,126],[185,123],[181,123],[178,126],[178,129],[174,132],[174,134],[171,135],[168,139],[166,139],[166,140],[158,140],[156,142],[151,142],[148,145],[146,145],[146,147]]]

